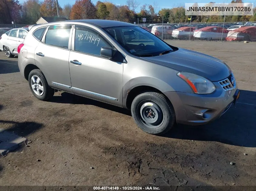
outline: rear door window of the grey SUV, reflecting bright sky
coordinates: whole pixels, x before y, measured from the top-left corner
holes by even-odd
[[[71,25],[51,26],[45,35],[45,44],[68,49]]]

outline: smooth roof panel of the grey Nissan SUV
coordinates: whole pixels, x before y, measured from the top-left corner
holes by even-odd
[[[90,23],[90,24],[98,25],[98,27],[101,27],[101,28],[118,27],[118,26],[134,26],[134,24],[125,23],[125,22],[121,22],[121,21],[100,20],[100,19],[71,20],[70,22],[72,22],[72,21]]]

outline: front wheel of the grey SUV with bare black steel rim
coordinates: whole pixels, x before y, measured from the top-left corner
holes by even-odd
[[[168,132],[175,123],[175,111],[170,101],[157,92],[145,92],[134,98],[131,115],[145,132],[160,135]]]

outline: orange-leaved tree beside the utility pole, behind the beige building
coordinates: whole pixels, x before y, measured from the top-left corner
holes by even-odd
[[[59,14],[62,15],[62,8],[58,5]],[[55,0],[45,0],[40,8],[40,13],[44,17],[55,17],[57,16],[57,6]]]

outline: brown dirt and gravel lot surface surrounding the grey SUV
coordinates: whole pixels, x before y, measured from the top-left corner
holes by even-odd
[[[175,125],[165,136],[87,98],[56,92],[37,100],[17,58],[0,52],[0,128],[32,141],[0,157],[0,185],[256,186],[256,43],[169,43],[224,60],[242,91],[216,121]]]

